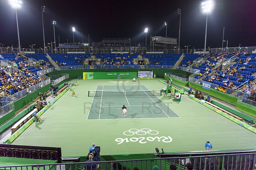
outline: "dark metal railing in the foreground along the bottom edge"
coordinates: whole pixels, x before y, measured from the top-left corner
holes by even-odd
[[[182,156],[182,155],[181,155]],[[209,155],[209,156],[191,156],[191,157],[172,157],[172,158],[151,158],[151,159],[133,159],[133,160],[117,160],[117,161],[100,161],[94,162],[99,165],[100,170],[128,170],[138,167],[139,169],[153,169],[153,166],[158,166],[161,170],[169,170],[170,165],[174,164],[177,170],[187,169],[187,163],[191,163],[193,169],[196,170],[252,170],[255,165],[255,153],[240,153],[240,154],[226,154]],[[14,165],[14,166],[0,166],[4,170],[17,169],[83,169],[83,166],[90,164],[90,162],[76,162],[76,163],[56,163],[56,164],[35,164],[35,165]],[[92,169],[92,167],[91,167]],[[96,168],[97,169],[97,168]]]

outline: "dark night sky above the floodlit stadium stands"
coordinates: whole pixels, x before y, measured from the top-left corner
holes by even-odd
[[[180,46],[204,48],[206,13],[202,11],[202,2],[198,0],[168,1],[67,1],[67,0],[22,0],[17,9],[21,48],[44,46],[41,6],[45,5],[44,33],[45,43],[54,42],[52,21],[55,25],[56,45],[73,43],[72,27],[76,28],[75,42],[100,42],[103,38],[131,38],[131,45],[145,43],[144,29],[150,35],[179,38],[181,9]],[[206,47],[222,46],[224,40],[228,47],[256,46],[256,1],[255,0],[214,0],[212,12],[208,14]],[[8,0],[0,0],[0,43],[5,47],[17,47],[18,35],[15,9]],[[226,42],[224,42],[225,44]],[[2,46],[2,45],[1,45]],[[226,44],[224,45],[224,47]]]

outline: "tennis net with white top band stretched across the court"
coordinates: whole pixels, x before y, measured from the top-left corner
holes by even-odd
[[[89,90],[88,97],[118,97],[118,96],[162,96],[162,90],[133,90],[133,91],[108,91]]]

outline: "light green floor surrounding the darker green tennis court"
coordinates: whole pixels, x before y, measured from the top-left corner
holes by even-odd
[[[63,157],[87,155],[92,143],[100,146],[100,155],[155,153],[156,147],[163,148],[164,152],[204,151],[206,140],[210,140],[214,150],[256,148],[256,143],[253,142],[256,141],[256,134],[188,96],[181,96],[180,102],[166,96],[150,96],[155,102],[159,97],[173,110],[172,114],[171,111],[167,114],[170,117],[168,118],[165,114],[155,116],[152,108],[150,111],[155,119],[148,119],[151,115],[148,112],[145,116],[143,114],[143,119],[136,119],[139,113],[133,115],[134,119],[129,118],[128,116],[134,114],[131,111],[134,108],[129,106],[126,117],[128,119],[126,119],[121,114],[121,110],[116,110],[123,104],[128,104],[124,103],[126,98],[108,97],[109,102],[118,102],[118,107],[115,109],[113,107],[114,112],[111,113],[113,116],[104,118],[104,109],[100,119],[96,117],[96,120],[87,120],[87,117],[94,119],[90,117],[91,105],[87,103],[94,103],[96,99],[88,97],[88,90],[96,90],[96,88],[116,90],[120,89],[120,86],[124,90],[127,88],[132,91],[164,88],[164,84],[158,80],[163,79],[143,79],[137,81],[138,84],[132,84],[131,80],[123,83],[116,80],[77,80],[77,86],[72,87],[76,97],[71,97],[72,91],[68,90],[42,114],[43,123],[31,124],[12,144],[61,147]],[[141,88],[138,87],[139,85]],[[154,104],[147,96],[143,96],[140,100],[138,98],[135,96],[134,99],[132,97],[127,99],[130,105],[141,105],[141,102]],[[106,101],[107,98],[104,99],[104,102]],[[154,109],[157,112],[160,110]],[[164,107],[161,106],[161,109],[164,110]],[[180,118],[171,118],[175,112]],[[164,115],[165,118],[157,119]]]

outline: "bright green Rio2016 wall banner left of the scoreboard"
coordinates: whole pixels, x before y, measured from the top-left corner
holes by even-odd
[[[83,79],[116,79],[120,75],[120,79],[137,79],[137,72],[84,72]]]

